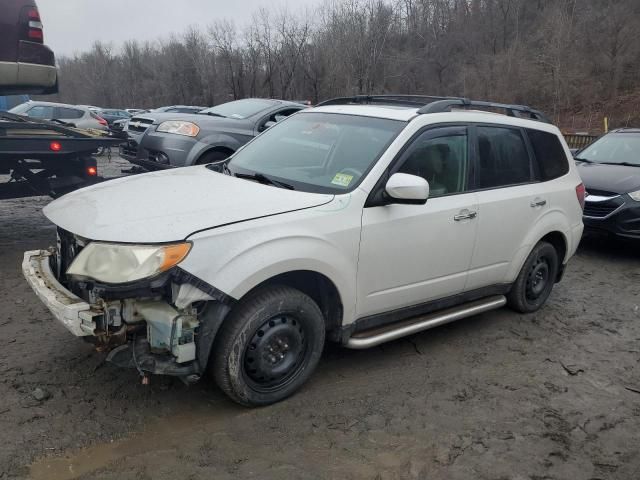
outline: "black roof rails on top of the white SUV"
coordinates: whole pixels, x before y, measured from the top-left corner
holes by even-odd
[[[510,105],[506,103],[484,102],[469,100],[462,97],[439,97],[431,95],[355,95],[352,97],[338,97],[316,105],[398,105],[404,107],[419,107],[418,114],[450,112],[452,109],[493,108],[504,110],[510,117],[527,118],[540,122],[551,121],[539,110],[526,105]]]

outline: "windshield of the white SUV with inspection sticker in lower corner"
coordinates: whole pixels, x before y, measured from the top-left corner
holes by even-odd
[[[405,122],[382,118],[303,113],[271,127],[229,162],[232,174],[259,174],[296,190],[353,190]]]

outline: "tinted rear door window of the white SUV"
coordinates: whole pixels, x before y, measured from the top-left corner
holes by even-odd
[[[531,161],[520,129],[478,127],[477,188],[531,182]]]

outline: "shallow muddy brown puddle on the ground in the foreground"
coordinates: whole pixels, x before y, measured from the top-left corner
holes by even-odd
[[[124,457],[171,449],[174,442],[195,430],[207,428],[215,431],[243,415],[251,415],[251,411],[215,405],[157,419],[143,432],[125,439],[94,445],[63,457],[41,458],[31,464],[29,477],[32,480],[73,480]]]

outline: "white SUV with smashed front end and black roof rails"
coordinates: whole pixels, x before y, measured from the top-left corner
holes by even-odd
[[[465,99],[330,101],[223,163],[52,202],[58,245],[27,252],[24,274],[73,334],[144,380],[209,368],[235,401],[269,404],[311,375],[325,337],[366,348],[543,305],[584,200],[543,120]]]

